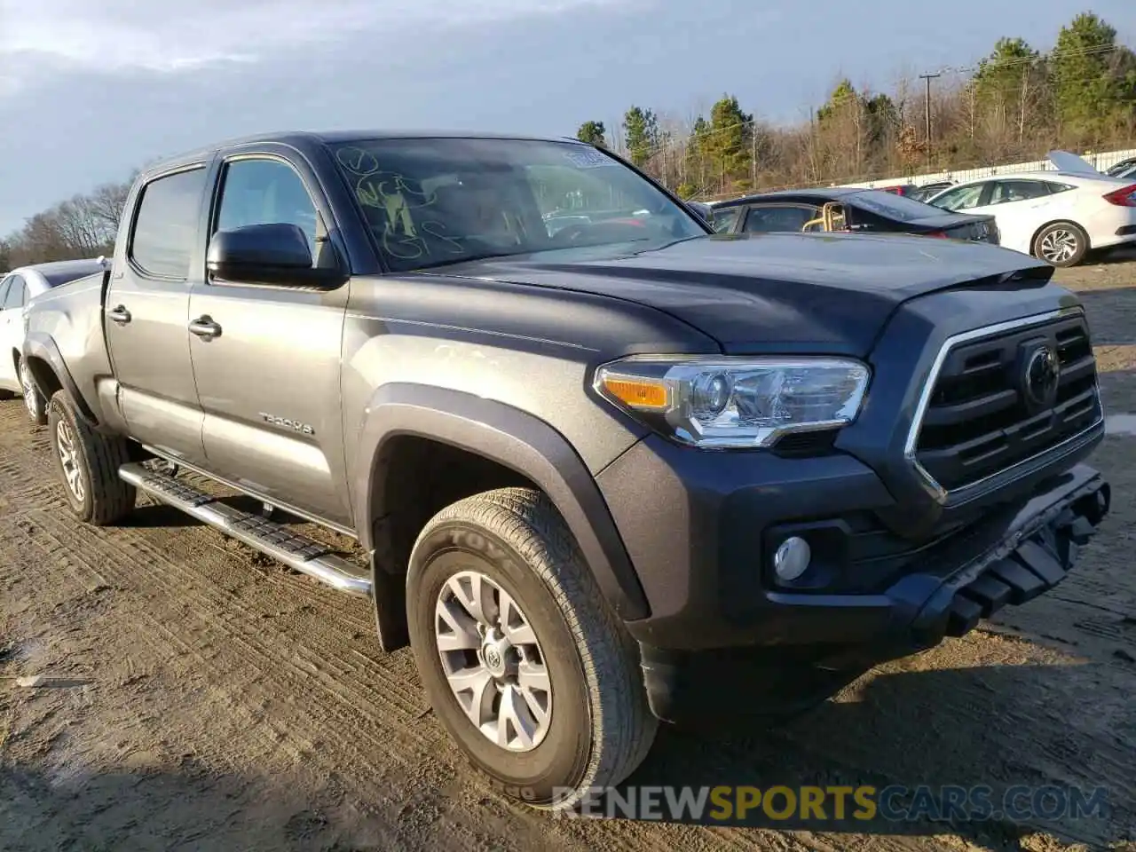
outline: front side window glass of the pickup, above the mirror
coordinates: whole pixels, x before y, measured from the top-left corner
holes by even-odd
[[[285,162],[234,160],[225,167],[216,231],[270,224],[296,225],[318,258],[319,216],[300,175]]]

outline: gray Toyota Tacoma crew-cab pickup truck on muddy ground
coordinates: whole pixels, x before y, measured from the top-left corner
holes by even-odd
[[[567,808],[660,719],[801,712],[1062,580],[1110,490],[1052,273],[716,235],[573,141],[295,133],[141,175],[24,356],[80,519],[142,491],[369,596],[494,787]]]

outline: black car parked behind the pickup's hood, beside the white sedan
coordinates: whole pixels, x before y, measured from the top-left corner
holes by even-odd
[[[828,186],[783,190],[718,201],[718,233],[849,231],[903,233],[997,243],[993,216],[944,214],[942,210],[883,190]]]

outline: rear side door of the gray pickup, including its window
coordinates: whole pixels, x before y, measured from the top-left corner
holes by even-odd
[[[103,325],[123,415],[143,443],[201,463],[201,408],[190,362],[190,287],[200,245],[208,165],[151,177],[128,206]]]

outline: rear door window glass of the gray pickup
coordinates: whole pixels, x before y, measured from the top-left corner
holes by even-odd
[[[189,277],[204,184],[206,169],[194,168],[143,187],[131,235],[131,259],[142,272],[162,278]]]

